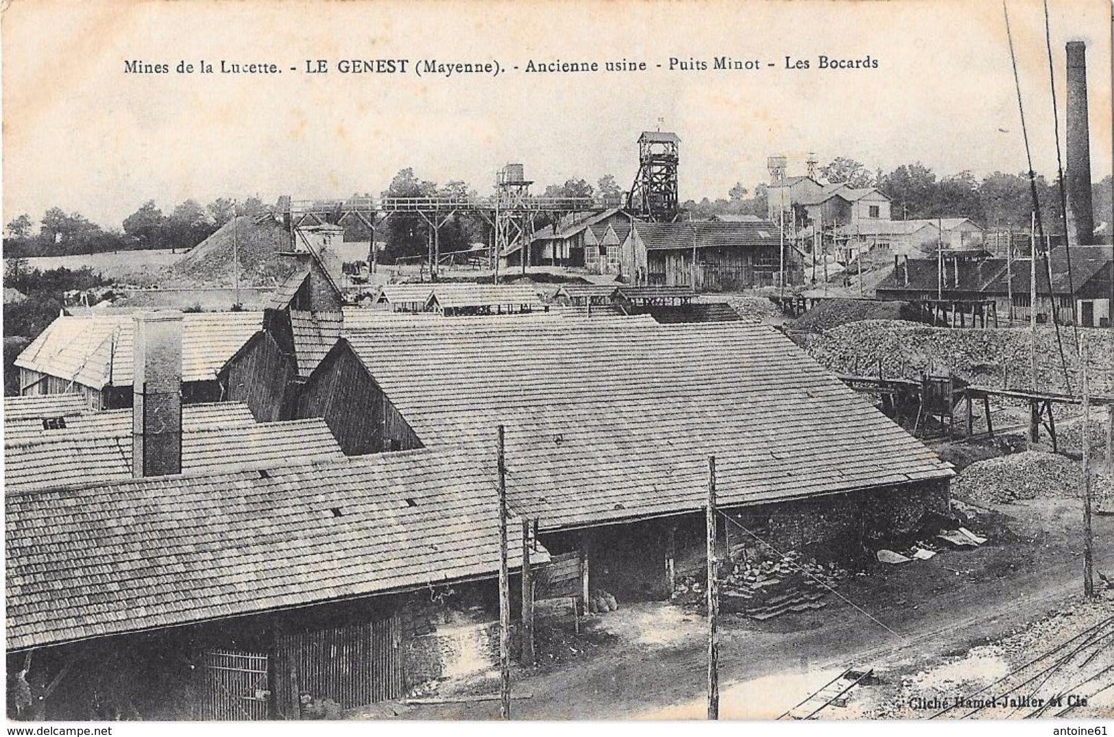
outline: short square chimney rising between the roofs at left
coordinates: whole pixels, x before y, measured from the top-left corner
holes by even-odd
[[[135,318],[131,377],[131,475],[182,473],[180,312]]]

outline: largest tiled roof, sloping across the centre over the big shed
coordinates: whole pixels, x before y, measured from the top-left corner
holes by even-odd
[[[713,453],[727,505],[951,474],[761,325],[443,321],[346,340],[422,443],[489,453],[506,424],[512,503],[547,529],[698,509]]]

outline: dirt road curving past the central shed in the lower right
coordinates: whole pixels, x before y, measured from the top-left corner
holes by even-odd
[[[850,666],[922,667],[1055,610],[1079,591],[1082,559],[1071,500],[1001,508],[1016,537],[853,577],[824,609],[721,631],[721,716],[773,718]],[[1114,571],[1114,520],[1095,519],[1096,568]],[[831,598],[830,598],[831,599]],[[608,619],[610,618],[610,621]],[[544,675],[516,674],[518,719],[703,718],[703,622],[666,603],[605,615],[620,641],[590,660]],[[831,675],[829,675],[831,674]],[[405,718],[491,719],[498,702],[412,708]]]

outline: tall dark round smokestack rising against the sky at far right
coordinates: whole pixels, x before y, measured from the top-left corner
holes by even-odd
[[[1091,138],[1087,130],[1087,46],[1067,42],[1067,233],[1072,243],[1092,240]]]

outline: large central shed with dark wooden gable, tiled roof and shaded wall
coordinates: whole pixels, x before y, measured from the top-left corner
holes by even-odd
[[[323,417],[350,455],[452,445],[491,459],[504,424],[515,511],[623,596],[661,596],[684,531],[703,530],[710,454],[723,507],[821,557],[948,509],[950,465],[768,326],[344,321],[286,384],[292,356],[242,353],[222,372],[228,396],[256,417]]]

